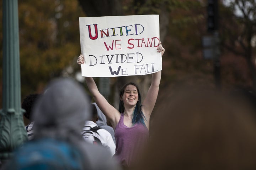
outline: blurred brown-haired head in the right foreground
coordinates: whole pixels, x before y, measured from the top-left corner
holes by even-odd
[[[187,89],[167,95],[168,104],[155,110],[137,170],[255,170],[256,120],[250,104]]]

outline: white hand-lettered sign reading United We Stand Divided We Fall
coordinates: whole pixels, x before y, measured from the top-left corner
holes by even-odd
[[[80,17],[85,77],[144,75],[162,69],[159,15]]]

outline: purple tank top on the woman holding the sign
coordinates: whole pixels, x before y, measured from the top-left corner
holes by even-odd
[[[130,167],[139,151],[143,149],[149,138],[149,131],[143,124],[137,123],[131,128],[124,125],[123,113],[115,129],[116,153],[114,157],[121,165]]]

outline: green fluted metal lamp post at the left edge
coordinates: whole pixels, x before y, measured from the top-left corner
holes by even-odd
[[[0,159],[27,141],[21,108],[18,2],[3,0],[3,95],[0,111]]]

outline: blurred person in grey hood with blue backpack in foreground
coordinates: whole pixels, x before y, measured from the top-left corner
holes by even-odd
[[[5,169],[119,169],[110,152],[83,140],[81,130],[90,118],[83,88],[73,79],[53,80],[33,109],[34,140],[20,147]]]

